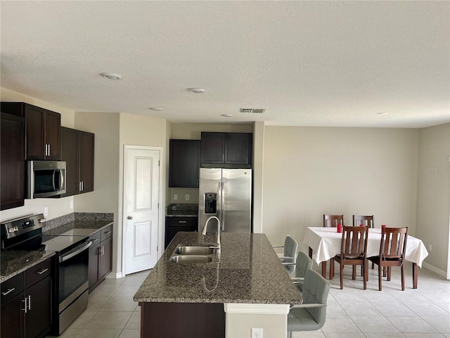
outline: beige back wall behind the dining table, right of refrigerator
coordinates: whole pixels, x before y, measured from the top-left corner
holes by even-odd
[[[273,244],[286,234],[302,244],[323,214],[375,215],[381,224],[416,233],[418,130],[266,127],[264,220]]]

